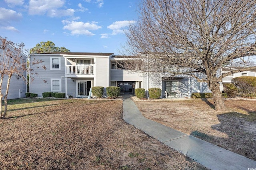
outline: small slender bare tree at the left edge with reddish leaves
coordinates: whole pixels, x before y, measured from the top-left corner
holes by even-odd
[[[6,38],[0,37],[0,118],[5,118],[7,113],[7,98],[10,87],[10,80],[12,76],[17,79],[23,78],[26,83],[26,71],[33,71],[27,67],[26,56],[23,52],[27,51],[24,49],[24,43],[13,43],[8,41]],[[31,64],[39,64],[43,61],[33,60]],[[42,68],[46,69],[43,65]],[[7,79],[5,78],[7,77]],[[5,93],[3,94],[2,84],[7,81]],[[4,112],[2,109],[2,99],[4,98]]]

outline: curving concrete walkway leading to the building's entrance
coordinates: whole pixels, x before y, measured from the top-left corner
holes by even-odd
[[[123,95],[123,109],[124,120],[127,123],[134,125],[151,137],[158,139],[207,168],[212,170],[256,169],[256,161],[254,160],[146,119],[128,94]]]

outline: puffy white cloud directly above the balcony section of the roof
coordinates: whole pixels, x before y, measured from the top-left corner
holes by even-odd
[[[89,30],[97,30],[102,28],[101,26],[97,25],[97,22],[82,22],[82,21],[68,21],[62,20],[63,24],[66,24],[63,29],[67,29],[70,31],[71,35],[87,35],[92,36],[95,35]]]

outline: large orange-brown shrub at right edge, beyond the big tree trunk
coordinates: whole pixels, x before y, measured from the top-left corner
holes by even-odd
[[[240,92],[241,96],[245,96],[245,94],[256,93],[256,77],[236,77],[233,78],[231,81],[238,88],[238,92]]]

